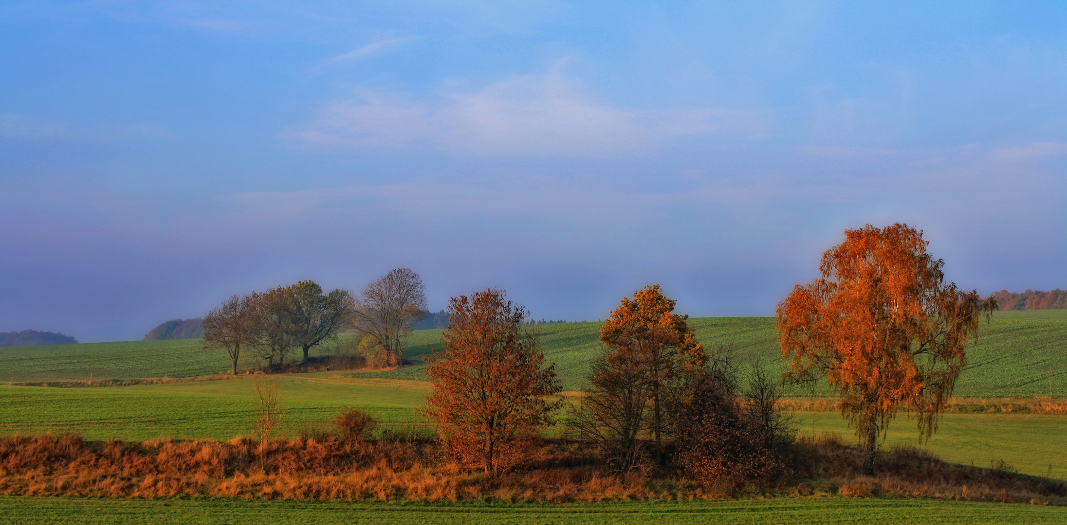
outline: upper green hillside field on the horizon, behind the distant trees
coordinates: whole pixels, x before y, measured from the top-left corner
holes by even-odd
[[[707,347],[735,348],[740,370],[761,361],[781,372],[773,317],[700,317],[691,319]],[[556,363],[566,390],[580,388],[586,365],[600,350],[599,323],[564,323],[535,327],[545,357]],[[413,366],[399,371],[357,373],[360,377],[425,380],[421,356],[427,345],[440,346],[440,330],[412,334],[408,356]],[[343,335],[345,338],[345,335]],[[336,344],[313,349],[329,355]],[[997,312],[983,325],[969,350],[969,367],[956,395],[966,397],[1067,397],[1067,310]],[[245,363],[251,366],[253,363]],[[191,377],[228,370],[225,352],[201,349],[198,340],[132,341],[0,348],[0,380]]]

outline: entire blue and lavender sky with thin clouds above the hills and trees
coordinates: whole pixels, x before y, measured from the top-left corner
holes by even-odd
[[[1067,288],[1063,2],[0,3],[0,331],[487,286],[773,315],[865,224]]]

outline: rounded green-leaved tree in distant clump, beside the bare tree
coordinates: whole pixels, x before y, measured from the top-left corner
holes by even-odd
[[[289,286],[289,322],[293,343],[307,350],[337,334],[351,295],[340,289],[329,294],[315,281],[300,281]]]

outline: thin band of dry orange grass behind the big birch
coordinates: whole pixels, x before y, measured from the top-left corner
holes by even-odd
[[[786,412],[831,412],[838,411],[837,398],[787,397],[778,401],[778,408]],[[1058,414],[1067,415],[1067,398],[1064,397],[951,397],[944,412],[957,414]]]

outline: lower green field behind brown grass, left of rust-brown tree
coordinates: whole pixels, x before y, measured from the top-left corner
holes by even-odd
[[[282,431],[329,424],[341,407],[361,407],[383,422],[411,422],[429,389],[366,380],[273,377],[286,409]],[[0,432],[77,432],[90,440],[160,437],[228,440],[255,428],[255,379],[58,389],[0,385]]]

